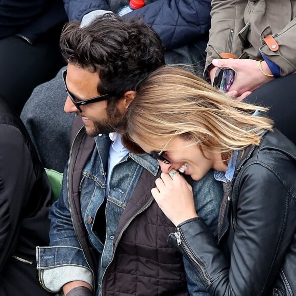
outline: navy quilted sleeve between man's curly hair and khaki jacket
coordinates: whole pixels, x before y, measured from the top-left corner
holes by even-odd
[[[169,50],[207,35],[210,11],[211,0],[158,0],[124,17],[143,17]]]

